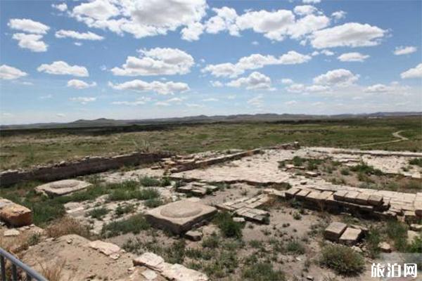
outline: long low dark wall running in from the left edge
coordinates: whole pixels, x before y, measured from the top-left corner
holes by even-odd
[[[23,181],[58,181],[118,169],[122,166],[158,162],[160,159],[169,156],[165,153],[134,152],[113,157],[86,157],[77,162],[60,162],[60,164],[53,166],[39,166],[30,171],[2,171],[0,172],[0,186],[4,187]]]

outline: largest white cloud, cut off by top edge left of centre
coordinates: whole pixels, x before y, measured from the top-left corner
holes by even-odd
[[[89,27],[142,38],[199,22],[206,8],[205,0],[94,0],[75,6],[70,15]]]

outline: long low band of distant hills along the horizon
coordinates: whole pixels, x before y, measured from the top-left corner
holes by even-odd
[[[255,115],[198,115],[189,117],[157,118],[157,119],[107,119],[99,118],[93,120],[78,119],[69,123],[37,123],[1,125],[0,129],[53,129],[53,128],[79,128],[79,127],[102,127],[102,126],[130,126],[136,124],[177,124],[177,123],[212,123],[212,122],[276,122],[285,120],[312,120],[312,119],[337,119],[337,118],[383,118],[383,117],[404,117],[421,116],[422,112],[375,112],[369,114],[341,114],[341,115],[305,115],[305,114],[255,114]]]

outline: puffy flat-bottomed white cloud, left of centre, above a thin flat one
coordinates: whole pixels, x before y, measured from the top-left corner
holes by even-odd
[[[127,57],[122,67],[111,71],[119,76],[173,75],[190,72],[194,60],[188,53],[178,48],[151,48],[139,50],[140,58]]]

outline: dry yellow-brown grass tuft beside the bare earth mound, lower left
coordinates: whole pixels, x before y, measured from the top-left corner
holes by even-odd
[[[46,228],[46,235],[49,237],[60,237],[69,234],[76,234],[88,239],[91,236],[87,226],[82,225],[82,223],[79,223],[75,218],[70,218],[68,216],[53,221],[53,223]]]

